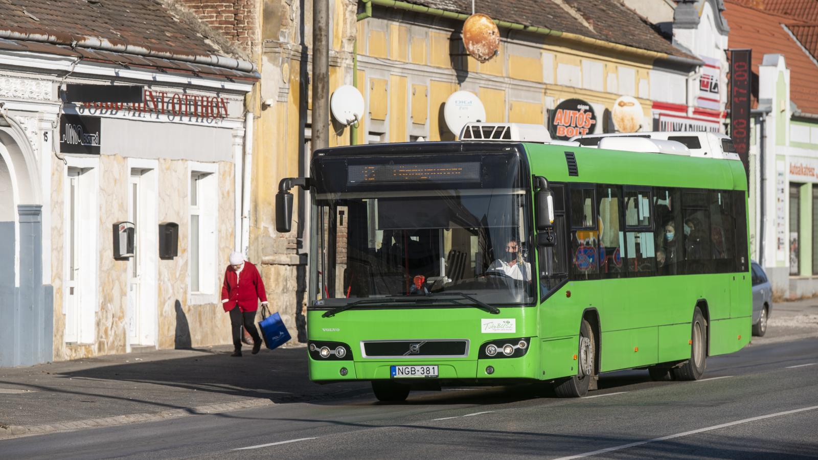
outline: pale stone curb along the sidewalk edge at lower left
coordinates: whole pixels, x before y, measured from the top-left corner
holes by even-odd
[[[75,420],[73,422],[51,423],[48,425],[0,425],[0,440],[9,440],[24,436],[49,435],[64,431],[77,431],[88,428],[101,428],[105,426],[121,426],[128,425],[130,423],[156,422],[160,420],[168,420],[170,418],[187,417],[190,415],[224,413],[241,409],[262,408],[265,406],[272,406],[273,404],[275,403],[269,399],[245,399],[234,403],[208,404],[205,406],[196,406],[194,408],[172,409],[160,413],[132,413],[113,417]]]

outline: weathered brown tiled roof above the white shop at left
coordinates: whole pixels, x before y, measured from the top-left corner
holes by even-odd
[[[94,56],[98,61],[134,65],[150,62],[149,66],[169,70],[225,74],[217,70],[223,66],[221,63],[190,62],[193,56],[218,56],[219,52],[160,2],[0,0],[0,34],[8,38],[4,40],[7,43],[0,43],[4,49],[18,43],[40,52],[73,53],[89,59]],[[105,49],[99,43],[114,48]],[[257,76],[254,71],[231,70],[227,74]]]

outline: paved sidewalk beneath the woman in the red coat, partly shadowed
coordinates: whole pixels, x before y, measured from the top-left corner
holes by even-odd
[[[303,347],[231,358],[232,345],[0,368],[0,440],[370,391],[308,379]]]

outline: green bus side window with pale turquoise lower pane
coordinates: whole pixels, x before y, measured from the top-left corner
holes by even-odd
[[[629,277],[656,273],[656,247],[651,220],[650,192],[625,191],[625,255]]]

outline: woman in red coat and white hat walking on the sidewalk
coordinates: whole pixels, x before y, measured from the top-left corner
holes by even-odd
[[[230,312],[230,325],[233,331],[233,347],[231,356],[241,356],[241,325],[253,337],[253,354],[261,350],[261,337],[258,336],[254,319],[258,309],[258,300],[262,305],[267,304],[267,293],[264,291],[264,282],[254,264],[245,262],[244,255],[231,252],[230,265],[224,272],[222,285],[222,307]]]

